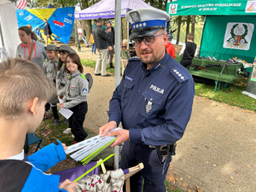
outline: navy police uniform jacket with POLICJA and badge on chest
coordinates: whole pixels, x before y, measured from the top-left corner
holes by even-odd
[[[109,102],[108,121],[129,130],[131,143],[175,143],[189,122],[195,84],[189,71],[166,54],[154,67],[131,58]]]

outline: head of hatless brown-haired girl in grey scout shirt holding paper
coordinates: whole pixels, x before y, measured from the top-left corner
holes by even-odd
[[[76,53],[68,54],[65,63],[67,66],[67,73],[75,73],[77,70],[79,70],[80,73],[84,72],[84,68],[80,61],[80,57]]]

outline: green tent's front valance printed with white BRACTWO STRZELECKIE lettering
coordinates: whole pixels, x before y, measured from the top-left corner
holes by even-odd
[[[256,2],[247,0],[177,0],[167,3],[169,15],[256,15]]]

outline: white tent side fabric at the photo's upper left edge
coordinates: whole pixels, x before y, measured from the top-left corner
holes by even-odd
[[[18,21],[15,10],[15,0],[0,1],[0,61],[6,57],[15,57],[18,36]]]

